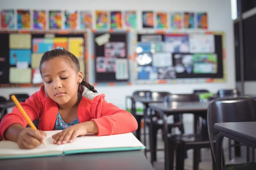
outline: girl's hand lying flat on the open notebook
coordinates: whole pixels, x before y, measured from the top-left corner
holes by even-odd
[[[77,136],[84,136],[88,132],[86,122],[70,126],[52,136],[54,144],[66,144],[73,142]]]

